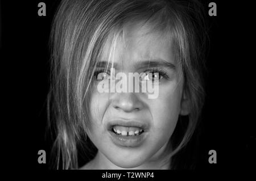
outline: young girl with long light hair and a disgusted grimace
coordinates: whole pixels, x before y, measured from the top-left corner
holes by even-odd
[[[61,2],[48,95],[56,169],[192,168],[175,156],[204,102],[201,12],[197,1]],[[100,91],[117,73],[142,74],[139,81],[151,81],[158,94]]]

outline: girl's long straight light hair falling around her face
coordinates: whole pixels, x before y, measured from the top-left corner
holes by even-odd
[[[184,91],[191,108],[181,141],[174,150],[167,150],[166,161],[187,144],[195,131],[204,102],[201,70],[204,68],[205,29],[199,2],[63,0],[53,20],[50,37],[48,125],[55,133],[52,157],[57,158],[53,162],[55,168],[77,169],[80,149],[85,148],[90,158],[96,153],[97,149],[90,149],[94,145],[86,137],[90,127],[88,108],[94,70],[110,33],[138,21],[150,23],[153,31],[165,32],[164,35],[172,33],[175,57],[181,65]]]

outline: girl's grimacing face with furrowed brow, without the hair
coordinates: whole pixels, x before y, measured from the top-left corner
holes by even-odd
[[[128,73],[159,73],[159,95],[148,99],[147,92],[101,93],[97,89],[99,81],[94,81],[88,136],[104,164],[122,168],[150,163],[156,166],[179,114],[184,112],[183,77],[177,76],[170,39],[164,40],[146,26],[129,26],[124,32],[125,39],[117,40],[110,55],[108,71],[113,65],[115,74],[127,77]],[[109,60],[112,41],[109,39],[104,46],[100,60],[103,65]]]

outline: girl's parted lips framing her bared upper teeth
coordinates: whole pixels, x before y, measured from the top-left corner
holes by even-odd
[[[112,131],[114,125],[120,125],[123,127],[137,127],[142,128],[143,133],[138,136],[122,136],[117,135]],[[146,122],[134,121],[134,120],[114,120],[107,124],[109,136],[113,143],[117,146],[125,147],[138,147],[143,144],[148,135],[149,125]]]

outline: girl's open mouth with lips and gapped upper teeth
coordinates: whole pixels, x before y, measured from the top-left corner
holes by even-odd
[[[137,121],[112,121],[108,125],[110,138],[115,145],[136,147],[146,139],[148,125]]]

